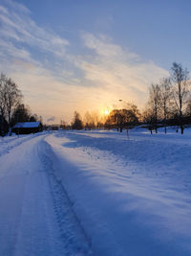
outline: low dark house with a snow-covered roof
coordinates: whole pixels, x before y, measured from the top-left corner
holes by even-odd
[[[42,131],[41,122],[25,122],[17,123],[13,128],[12,132],[16,134],[30,134]]]

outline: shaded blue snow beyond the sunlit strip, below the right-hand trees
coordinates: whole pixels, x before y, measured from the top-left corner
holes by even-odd
[[[81,132],[80,135],[72,132],[67,133],[66,136],[71,140],[65,144],[67,148],[87,151],[87,154],[95,160],[97,158],[97,161],[100,152],[102,157],[110,158],[110,163],[120,162],[124,168],[132,169],[132,174],[157,176],[158,179],[165,177],[165,179],[170,178],[171,181],[174,179],[174,182],[179,182],[182,190],[191,192],[191,175],[189,175],[191,134],[184,135],[182,139],[182,136],[176,132],[167,134],[167,138],[162,133],[150,135],[150,133],[130,132],[129,140],[125,132],[117,134],[116,131],[105,134],[103,131],[85,134]],[[94,152],[91,153],[93,150]],[[126,170],[124,172],[127,174]]]

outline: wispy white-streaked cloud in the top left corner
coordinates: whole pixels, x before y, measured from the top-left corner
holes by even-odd
[[[13,1],[5,1],[0,6],[0,34],[9,41],[22,43],[22,46],[36,47],[41,52],[48,52],[64,58],[69,41],[53,31],[45,30],[36,25],[30,17],[30,11],[23,5]],[[20,50],[20,47],[17,46]]]

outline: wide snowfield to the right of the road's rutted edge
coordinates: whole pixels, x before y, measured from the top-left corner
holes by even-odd
[[[55,134],[54,174],[97,255],[191,254],[189,134]]]

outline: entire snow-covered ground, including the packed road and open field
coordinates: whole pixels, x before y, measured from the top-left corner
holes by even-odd
[[[0,255],[191,255],[191,130],[0,141]]]

